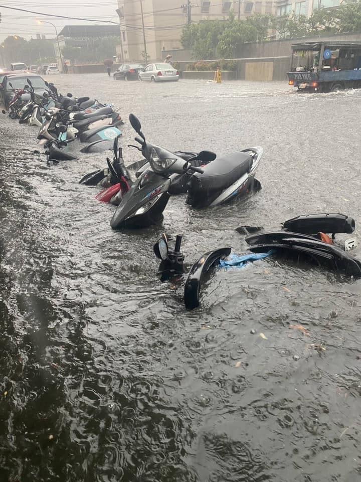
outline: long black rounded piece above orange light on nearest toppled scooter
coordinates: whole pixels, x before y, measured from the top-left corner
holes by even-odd
[[[351,233],[355,229],[355,222],[352,217],[339,213],[306,214],[285,221],[283,227],[304,234],[315,234],[319,231]]]

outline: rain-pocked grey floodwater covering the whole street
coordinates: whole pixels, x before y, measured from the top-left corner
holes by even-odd
[[[105,156],[47,166],[37,130],[1,118],[0,480],[359,481],[361,281],[268,259],[219,271],[187,312],[152,244],[184,234],[191,264],[245,253],[242,224],[329,211],[359,225],[361,90],[53,80],[135,113],[170,150],[262,146],[263,189],[203,211],[174,197],[161,225],[112,231],[114,207],[78,184]],[[126,163],[133,137],[127,122]]]

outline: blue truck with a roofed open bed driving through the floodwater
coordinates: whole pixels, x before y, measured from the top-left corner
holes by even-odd
[[[288,84],[297,90],[330,92],[361,87],[361,42],[303,42],[292,45]]]

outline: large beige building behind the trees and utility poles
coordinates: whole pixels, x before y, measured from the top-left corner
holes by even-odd
[[[184,6],[182,6],[182,3]],[[163,50],[182,48],[180,36],[188,22],[187,0],[118,0],[122,45],[117,54],[119,60],[141,61],[145,45],[149,60],[161,59]],[[253,14],[276,13],[273,0],[198,0],[191,3],[192,22],[227,19],[233,11],[241,19]]]

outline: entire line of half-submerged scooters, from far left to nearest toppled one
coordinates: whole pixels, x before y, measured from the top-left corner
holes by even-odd
[[[113,105],[89,97],[75,98],[70,93],[63,96],[52,83],[47,83],[48,91],[40,96],[35,93],[31,80],[27,82],[24,89],[14,89],[8,112],[20,123],[40,128],[39,144],[45,148],[49,163],[74,161],[78,155],[90,152],[112,152],[112,159],[107,158],[104,169],[86,174],[80,183],[99,186],[101,192],[97,199],[116,205],[111,219],[114,229],[134,229],[157,223],[172,195],[186,193],[186,202],[191,207],[208,208],[245,197],[261,188],[255,178],[263,156],[261,147],[220,157],[210,151],[170,152],[151,144],[142,132],[139,119],[130,114],[137,145],[128,147],[137,149],[141,159],[125,166],[119,144],[122,135],[119,127],[123,120]],[[80,141],[79,148],[71,146],[69,149],[69,144],[75,140]],[[296,258],[297,262],[308,261],[346,276],[361,277],[361,263],[346,253],[356,246],[357,239],[347,239],[343,249],[334,243],[335,233],[352,233],[354,228],[352,218],[338,213],[297,216],[283,223],[282,229],[272,231],[241,226],[237,230],[246,234],[250,251],[257,256],[242,256],[240,263],[244,266],[245,262],[282,254]],[[161,260],[158,274],[163,281],[184,277],[180,242],[177,236],[171,250],[163,235],[154,246],[154,253]],[[222,260],[230,253],[229,247],[217,249],[203,254],[193,265],[185,281],[187,308],[198,306],[206,273],[210,273],[211,268],[225,266]],[[236,265],[237,261],[228,266]]]

